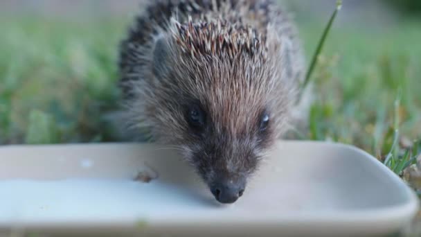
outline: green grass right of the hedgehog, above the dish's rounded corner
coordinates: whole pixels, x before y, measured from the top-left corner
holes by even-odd
[[[388,157],[385,164],[399,175],[414,164],[421,148],[419,27],[407,21],[374,32],[334,28],[319,56],[307,136]],[[306,48],[314,49],[314,42],[307,40]]]

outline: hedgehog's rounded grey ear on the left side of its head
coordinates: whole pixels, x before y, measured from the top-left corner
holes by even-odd
[[[155,76],[161,78],[168,75],[168,61],[170,60],[170,45],[165,37],[159,37],[155,41],[152,52],[152,70]]]

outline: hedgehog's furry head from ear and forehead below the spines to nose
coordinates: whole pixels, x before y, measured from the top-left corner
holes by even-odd
[[[270,60],[241,53],[230,57],[189,55],[171,40],[159,40],[153,85],[143,97],[152,134],[181,148],[222,203],[243,194],[280,134],[289,103]]]

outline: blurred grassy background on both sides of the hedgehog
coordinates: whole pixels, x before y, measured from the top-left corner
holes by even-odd
[[[0,3],[1,144],[118,140],[108,114],[118,105],[118,42],[136,12],[136,1],[127,2]],[[313,75],[310,130],[301,139],[354,144],[379,159],[392,150],[394,160],[415,163],[421,16],[404,2],[419,3],[344,1]],[[334,1],[288,3],[310,61]]]

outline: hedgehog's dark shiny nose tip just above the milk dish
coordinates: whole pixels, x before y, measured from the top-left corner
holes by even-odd
[[[246,182],[244,179],[239,179],[238,181],[224,179],[215,182],[211,187],[211,191],[218,202],[230,204],[242,196],[245,186]]]

